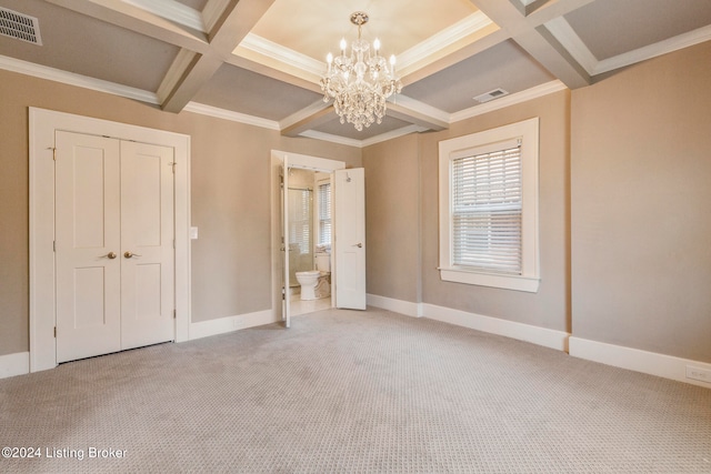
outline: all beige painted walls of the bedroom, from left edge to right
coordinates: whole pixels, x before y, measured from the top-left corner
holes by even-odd
[[[711,42],[362,151],[0,71],[0,355],[28,350],[28,118],[192,137],[193,321],[267,310],[270,149],[365,168],[370,294],[711,362]],[[438,143],[540,118],[537,294],[442,282]]]

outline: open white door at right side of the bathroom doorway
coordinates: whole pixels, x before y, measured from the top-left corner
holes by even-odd
[[[365,173],[333,173],[336,306],[365,309]]]

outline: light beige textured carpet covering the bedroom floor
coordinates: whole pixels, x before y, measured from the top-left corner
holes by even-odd
[[[1,472],[711,473],[711,390],[378,310],[0,380],[0,407],[42,454]]]

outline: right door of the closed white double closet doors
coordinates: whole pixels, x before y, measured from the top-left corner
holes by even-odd
[[[121,349],[174,339],[173,150],[121,142]]]

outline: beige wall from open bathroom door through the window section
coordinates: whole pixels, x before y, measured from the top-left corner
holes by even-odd
[[[569,111],[570,93],[564,91],[455,123],[447,131],[365,149],[368,292],[570,331]],[[539,292],[441,281],[439,142],[532,117],[540,118]]]

